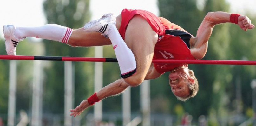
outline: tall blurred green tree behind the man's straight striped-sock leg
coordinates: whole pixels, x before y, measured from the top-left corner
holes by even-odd
[[[70,28],[80,28],[90,19],[89,0],[45,0],[43,3],[48,23]],[[68,45],[44,40],[46,55],[93,57],[92,48],[70,47]],[[63,113],[64,111],[64,63],[50,62],[45,69],[44,111]],[[93,93],[93,63],[73,62],[75,64],[75,105]]]

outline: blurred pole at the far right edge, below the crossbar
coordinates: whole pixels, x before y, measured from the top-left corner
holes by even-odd
[[[253,126],[256,126],[256,79],[251,82],[252,88],[252,106],[253,106]]]

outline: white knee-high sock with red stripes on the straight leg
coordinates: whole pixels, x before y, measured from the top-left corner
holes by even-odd
[[[24,37],[36,37],[48,40],[67,43],[72,34],[72,29],[56,24],[47,24],[38,27],[18,27],[14,31],[14,36],[19,40]]]

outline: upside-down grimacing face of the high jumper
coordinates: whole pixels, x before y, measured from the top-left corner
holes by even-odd
[[[190,94],[188,86],[194,84],[194,79],[189,76],[188,69],[185,67],[170,72],[169,84],[175,96],[186,97]]]

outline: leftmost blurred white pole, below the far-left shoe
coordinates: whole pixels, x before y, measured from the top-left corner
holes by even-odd
[[[8,126],[15,125],[16,112],[16,60],[10,60],[9,70]]]

